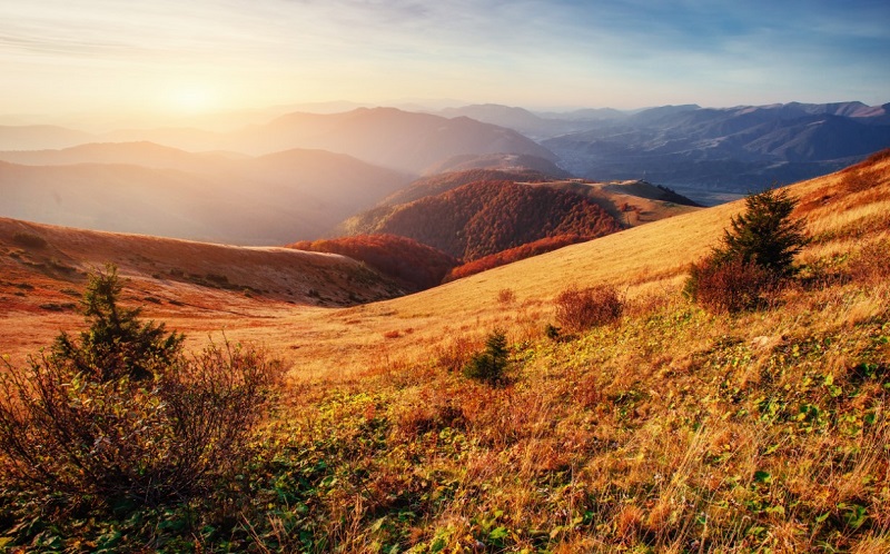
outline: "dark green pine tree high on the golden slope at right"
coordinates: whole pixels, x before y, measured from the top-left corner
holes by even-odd
[[[790,219],[795,206],[797,200],[784,190],[769,189],[745,198],[746,210],[723,231],[714,260],[753,263],[778,277],[793,275],[794,256],[808,243],[804,221]]]

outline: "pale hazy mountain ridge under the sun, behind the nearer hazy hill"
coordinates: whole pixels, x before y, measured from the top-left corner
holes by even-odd
[[[40,137],[46,140],[41,142]],[[47,126],[0,126],[0,150],[69,148],[86,142],[141,142],[188,150],[263,156],[295,148],[328,150],[397,171],[423,174],[455,156],[556,156],[520,132],[466,117],[448,119],[395,108],[340,113],[293,112],[229,132],[200,129],[128,129],[90,135]]]

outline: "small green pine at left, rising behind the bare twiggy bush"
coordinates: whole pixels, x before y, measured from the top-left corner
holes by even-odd
[[[81,300],[90,327],[80,333],[79,343],[62,332],[52,345],[52,356],[99,382],[145,379],[151,377],[152,366],[170,365],[181,353],[185,337],[167,334],[164,324],[140,321],[139,308],[118,306],[122,288],[112,264],[91,274]]]

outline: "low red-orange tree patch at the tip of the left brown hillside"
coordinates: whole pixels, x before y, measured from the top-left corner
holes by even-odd
[[[297,250],[339,254],[364,261],[406,288],[424,290],[442,283],[457,260],[416,240],[394,235],[358,235],[330,240],[304,240]]]

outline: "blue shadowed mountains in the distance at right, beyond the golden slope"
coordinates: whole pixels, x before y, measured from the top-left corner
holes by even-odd
[[[849,166],[890,146],[890,103],[664,106],[536,115],[497,105],[443,112],[535,138],[563,169],[591,179],[641,179],[713,204]]]

